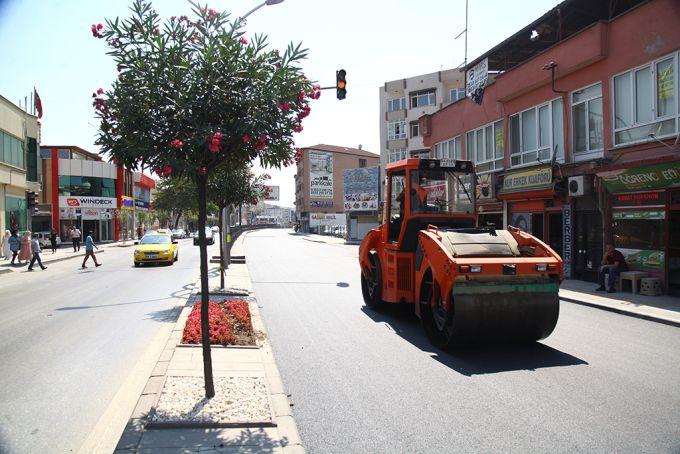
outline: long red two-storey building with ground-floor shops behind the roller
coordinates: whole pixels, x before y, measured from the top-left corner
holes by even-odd
[[[495,74],[479,103],[420,130],[431,156],[476,163],[480,224],[522,227],[584,280],[611,242],[680,292],[678,23],[673,0],[567,0],[468,65]]]

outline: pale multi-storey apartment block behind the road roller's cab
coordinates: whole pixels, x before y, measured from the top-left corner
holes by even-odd
[[[465,97],[465,73],[448,69],[385,82],[380,89],[380,167],[407,157],[429,156],[418,118]]]

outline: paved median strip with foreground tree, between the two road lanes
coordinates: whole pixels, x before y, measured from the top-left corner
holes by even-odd
[[[232,248],[232,256],[244,256],[244,241],[248,232],[241,235]],[[215,253],[216,250],[214,250]],[[274,361],[273,352],[267,340],[266,330],[260,318],[257,302],[252,294],[252,284],[246,264],[232,263],[225,277],[226,288],[219,289],[219,272],[216,265],[209,266],[211,299],[227,298],[228,294],[242,295],[249,302],[253,328],[261,332],[258,346],[213,347],[212,361],[216,388],[218,381],[239,379],[264,383],[260,395],[267,402],[259,406],[266,417],[244,423],[215,426],[210,423],[179,422],[172,425],[152,421],[166,384],[178,377],[203,377],[203,361],[200,346],[179,345],[184,323],[191,312],[193,303],[200,298],[194,292],[183,307],[169,336],[165,349],[148,379],[142,395],[137,401],[130,420],[120,437],[115,453],[152,452],[271,452],[304,453],[297,425],[293,419],[291,404],[284,391],[283,383]],[[198,286],[198,282],[196,283]],[[238,298],[238,297],[236,297]],[[238,383],[237,383],[238,387]],[[170,391],[166,390],[167,393]],[[220,391],[217,389],[217,393]],[[258,391],[251,388],[251,395]],[[216,399],[219,396],[216,396]],[[174,399],[177,399],[175,397]],[[167,399],[167,398],[166,398]],[[204,405],[203,402],[196,406]],[[239,405],[239,402],[236,402]],[[197,408],[197,407],[194,408]],[[246,413],[250,409],[246,410]],[[258,408],[253,409],[253,411]],[[151,423],[151,424],[149,424]]]

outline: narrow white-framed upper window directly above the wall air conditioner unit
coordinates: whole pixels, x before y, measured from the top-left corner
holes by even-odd
[[[602,84],[571,94],[571,119],[574,153],[601,151],[604,147]]]

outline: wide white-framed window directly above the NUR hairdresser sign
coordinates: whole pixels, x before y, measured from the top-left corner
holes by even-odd
[[[564,159],[562,98],[510,116],[510,164]]]

